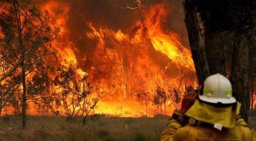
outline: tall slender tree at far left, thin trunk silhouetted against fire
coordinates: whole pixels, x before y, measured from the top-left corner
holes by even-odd
[[[17,76],[10,80],[17,82],[22,87],[11,84],[12,90],[22,89],[22,127],[26,128],[26,76],[34,72],[38,66],[43,65],[43,58],[53,54],[50,51],[51,45],[48,43],[57,38],[58,30],[52,30],[48,26],[49,15],[44,16],[35,8],[29,0],[6,0],[1,2],[1,26],[2,31],[8,35],[2,38],[1,43],[7,52],[2,56],[10,61],[11,71],[2,79],[11,78],[10,75]],[[8,54],[8,55],[5,55]],[[7,61],[7,60],[5,60]],[[12,71],[13,70],[13,71]],[[7,84],[7,83],[6,83]],[[13,89],[14,88],[14,89]],[[9,90],[10,91],[10,90]],[[11,93],[12,94],[12,93]]]

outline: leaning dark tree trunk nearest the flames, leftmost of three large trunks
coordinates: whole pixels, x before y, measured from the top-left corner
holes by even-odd
[[[202,85],[203,81],[210,75],[209,66],[204,50],[202,34],[197,19],[196,7],[189,4],[190,0],[183,0],[185,13],[185,24],[189,36],[189,44],[192,53],[192,59],[195,64],[198,84]]]

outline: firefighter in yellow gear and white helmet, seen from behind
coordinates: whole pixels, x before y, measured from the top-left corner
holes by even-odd
[[[211,75],[199,92],[184,96],[160,141],[256,141],[256,132],[239,115],[240,106],[232,96],[230,81]]]

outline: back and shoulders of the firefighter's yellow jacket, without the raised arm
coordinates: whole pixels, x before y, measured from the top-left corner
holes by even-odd
[[[175,134],[175,141],[256,141],[255,131],[248,125],[237,125],[234,128],[223,128],[221,131],[205,125],[186,125],[179,128]]]

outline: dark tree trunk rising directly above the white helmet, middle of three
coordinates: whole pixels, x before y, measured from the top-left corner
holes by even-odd
[[[227,73],[225,66],[224,41],[222,32],[206,33],[205,50],[210,74],[220,73],[226,76]]]

